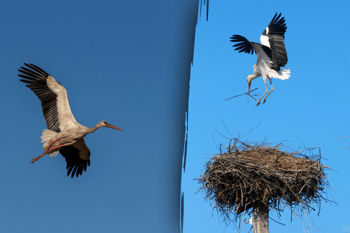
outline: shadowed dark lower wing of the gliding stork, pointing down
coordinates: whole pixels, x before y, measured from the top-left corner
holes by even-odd
[[[82,175],[83,170],[90,166],[90,150],[86,146],[84,138],[80,138],[76,143],[70,146],[63,146],[59,153],[65,158],[67,167],[67,176],[72,172],[72,178],[76,174]]]

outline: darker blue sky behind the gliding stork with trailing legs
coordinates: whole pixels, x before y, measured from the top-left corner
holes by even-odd
[[[193,18],[197,4],[2,4],[1,232],[180,231],[191,56],[178,48],[188,44],[182,14]],[[43,151],[47,126],[40,101],[17,76],[23,63],[66,88],[80,124],[107,121],[124,130],[103,128],[85,137],[91,166],[82,176],[67,177],[60,154],[29,163]]]

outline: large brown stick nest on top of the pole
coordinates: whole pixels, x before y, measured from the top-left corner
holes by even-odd
[[[320,207],[322,199],[329,201],[324,169],[330,168],[320,163],[320,155],[313,154],[316,148],[288,151],[289,147],[265,141],[231,141],[227,151],[211,157],[204,174],[195,179],[201,184],[198,191],[203,191],[225,222],[231,220],[230,214],[237,220],[258,203],[279,214],[288,206],[298,216],[295,207],[310,211],[314,205]]]

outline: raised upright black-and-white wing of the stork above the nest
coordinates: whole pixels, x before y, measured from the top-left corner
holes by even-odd
[[[284,67],[287,64],[288,57],[286,47],[284,44],[284,34],[286,32],[286,24],[284,17],[281,17],[281,13],[277,16],[277,12],[267,28],[262,32],[260,36],[260,42],[263,45],[268,46],[273,57],[272,59],[274,70],[280,70],[280,67]]]

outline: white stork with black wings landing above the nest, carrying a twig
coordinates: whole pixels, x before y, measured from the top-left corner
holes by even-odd
[[[280,68],[284,67],[288,61],[284,44],[284,34],[287,29],[285,24],[286,20],[284,17],[280,19],[281,13],[277,17],[276,16],[277,13],[268,24],[267,28],[262,32],[260,36],[261,44],[251,42],[247,38],[240,35],[232,35],[232,37],[230,37],[230,39],[232,39],[232,42],[240,42],[232,46],[238,47],[235,50],[239,50],[238,52],[245,53],[251,52],[252,54],[255,51],[258,56],[257,64],[253,66],[254,73],[252,75],[248,75],[247,77],[248,95],[250,95],[250,84],[252,80],[258,78],[259,76],[262,76],[262,79],[265,82],[266,91],[264,95],[267,93],[266,78],[270,80],[271,91],[267,94],[267,96],[273,91],[271,81],[272,78],[286,80],[290,77],[289,69],[281,70]],[[260,101],[264,95],[261,96],[255,107],[260,104]],[[265,103],[267,96],[262,103]],[[253,97],[253,99],[255,98]]]

